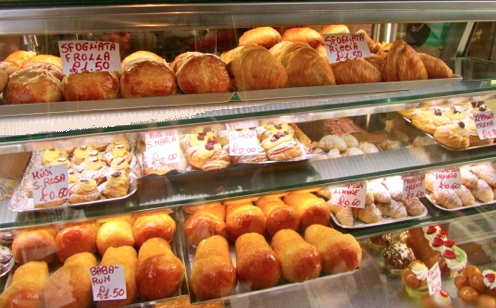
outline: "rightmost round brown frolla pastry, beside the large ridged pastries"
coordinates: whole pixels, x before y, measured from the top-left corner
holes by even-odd
[[[185,94],[228,92],[232,86],[226,63],[213,54],[189,56],[177,69],[176,76]]]

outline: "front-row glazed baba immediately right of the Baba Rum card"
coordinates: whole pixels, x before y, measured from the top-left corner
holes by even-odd
[[[177,295],[184,279],[184,265],[163,238],[151,238],[138,252],[136,284],[145,300]]]

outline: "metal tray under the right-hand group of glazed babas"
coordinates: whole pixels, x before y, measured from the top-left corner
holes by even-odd
[[[184,221],[186,221],[188,219],[188,217],[190,217],[192,215],[192,213],[190,211],[188,211],[187,209],[185,210],[184,208],[182,208],[182,211],[183,211],[183,215],[184,215]],[[188,281],[189,281],[189,277],[191,276],[191,271],[193,268],[196,248],[193,247],[192,245],[190,245],[189,243],[187,243],[186,239],[184,239],[184,243],[185,243],[184,244],[185,250],[183,252],[184,259],[185,259],[184,265],[186,267],[186,276],[188,277]],[[268,240],[268,243],[270,246],[270,240]],[[231,260],[232,260],[234,266],[236,267],[236,253],[234,251],[234,244],[231,243],[230,241],[229,241],[229,251],[231,253]],[[307,280],[306,282],[316,281],[316,280],[324,280],[324,279],[334,279],[334,278],[338,278],[338,277],[342,277],[342,276],[352,275],[352,274],[356,273],[359,269],[360,268],[357,268],[357,269],[349,271],[349,272],[338,273],[338,274],[334,274],[334,275],[327,275],[327,274],[322,273],[320,277],[312,279],[312,280]],[[281,290],[281,289],[286,289],[286,288],[289,289],[291,287],[298,287],[299,285],[301,285],[301,283],[289,282],[289,281],[286,281],[283,277],[281,277],[279,284],[274,286],[274,287],[262,289],[262,290],[251,291],[251,290],[247,289],[246,286],[242,286],[241,283],[239,283],[239,281],[238,281],[236,288],[234,289],[232,294],[221,297],[221,298],[211,299],[211,300],[198,299],[195,296],[195,294],[193,293],[193,291],[190,290],[190,301],[192,304],[214,302],[214,301],[218,301],[219,299],[221,299],[223,301],[227,301],[230,299],[236,299],[236,298],[242,298],[242,297],[247,297],[247,296],[251,296],[251,295],[274,292],[276,290]]]

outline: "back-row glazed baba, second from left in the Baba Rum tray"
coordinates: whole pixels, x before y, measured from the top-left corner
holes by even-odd
[[[57,257],[61,262],[81,252],[96,251],[97,226],[94,222],[82,222],[64,226],[55,236]]]

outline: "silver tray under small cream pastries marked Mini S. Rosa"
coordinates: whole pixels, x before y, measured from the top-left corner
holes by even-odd
[[[109,140],[108,138],[111,138],[112,136],[106,136],[105,140]],[[128,190],[128,193],[125,196],[118,197],[118,198],[105,198],[103,197],[100,200],[97,201],[91,201],[91,202],[85,202],[85,203],[76,203],[72,204],[69,202],[65,202],[61,205],[57,206],[43,206],[40,205],[39,207],[35,207],[33,203],[33,199],[30,198],[27,194],[29,188],[31,187],[30,184],[30,178],[29,178],[29,170],[32,170],[34,168],[40,167],[41,166],[41,156],[43,154],[43,150],[34,150],[31,155],[31,160],[26,166],[24,176],[22,177],[21,181],[17,185],[16,189],[14,190],[12,197],[9,200],[8,203],[8,209],[14,212],[26,212],[26,211],[43,211],[46,209],[61,209],[61,208],[70,208],[70,207],[81,207],[81,206],[88,206],[88,205],[93,205],[93,204],[99,204],[99,203],[104,203],[108,201],[118,201],[118,200],[124,200],[132,196],[136,191],[138,190],[138,179],[141,176],[141,167],[139,165],[139,162],[136,158],[135,152],[134,152],[134,142],[132,140],[129,140],[131,143],[131,154],[133,156],[132,162],[130,163],[131,166],[131,173],[129,174],[129,179],[130,179],[130,187]],[[98,143],[98,139],[92,140],[92,143]],[[62,147],[63,148],[63,147]]]

